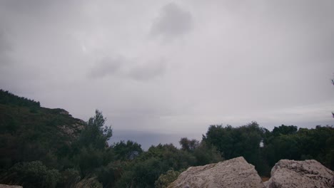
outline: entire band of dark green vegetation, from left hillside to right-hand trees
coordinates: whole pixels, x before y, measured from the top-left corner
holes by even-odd
[[[41,108],[33,100],[0,93],[0,184],[167,187],[190,166],[239,156],[265,176],[280,159],[315,159],[334,169],[330,126],[280,125],[269,131],[256,122],[211,125],[201,141],[183,137],[181,148],[166,144],[143,151],[131,140],[109,146],[113,131],[98,110],[82,122],[65,110]]]

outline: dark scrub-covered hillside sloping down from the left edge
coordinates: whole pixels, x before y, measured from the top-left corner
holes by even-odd
[[[55,162],[50,158],[64,155],[84,125],[66,110],[42,108],[0,90],[0,169],[16,162]]]

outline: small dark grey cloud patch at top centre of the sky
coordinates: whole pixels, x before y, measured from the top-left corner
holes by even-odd
[[[174,3],[170,3],[161,9],[158,19],[152,25],[151,33],[153,36],[161,35],[165,38],[175,38],[188,33],[192,28],[191,13],[183,11]]]

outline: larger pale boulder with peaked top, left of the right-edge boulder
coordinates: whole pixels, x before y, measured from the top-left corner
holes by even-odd
[[[243,157],[190,167],[168,187],[264,187],[254,166]]]

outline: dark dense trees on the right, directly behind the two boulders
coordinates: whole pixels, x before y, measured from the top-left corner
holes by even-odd
[[[261,175],[269,176],[278,160],[315,159],[334,169],[334,127],[306,129],[280,125],[273,131],[256,122],[241,127],[211,125],[203,140],[217,147],[226,160],[243,156]]]

